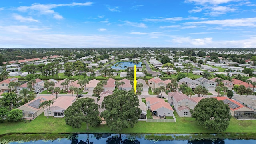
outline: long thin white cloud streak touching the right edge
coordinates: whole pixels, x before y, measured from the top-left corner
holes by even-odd
[[[256,26],[256,17],[226,19],[226,20],[208,20],[208,21],[201,21],[201,22],[186,22],[184,24],[215,24],[215,25],[221,25],[221,26]]]

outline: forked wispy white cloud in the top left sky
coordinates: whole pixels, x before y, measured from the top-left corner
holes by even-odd
[[[57,8],[60,6],[90,6],[92,2],[86,3],[71,3],[71,4],[37,4],[34,3],[31,6],[20,6],[16,8],[16,10],[20,12],[30,12],[31,14],[42,14],[42,15],[52,15],[55,19],[62,19],[63,17],[60,16],[57,12],[52,10],[53,8]]]

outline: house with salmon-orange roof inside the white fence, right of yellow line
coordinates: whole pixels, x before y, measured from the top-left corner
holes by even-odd
[[[162,98],[146,97],[146,104],[154,116],[173,116],[174,110],[168,102]]]

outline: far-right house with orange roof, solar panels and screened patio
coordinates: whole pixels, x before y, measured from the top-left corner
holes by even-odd
[[[256,112],[235,100],[229,99],[227,97],[214,97],[217,100],[222,100],[225,104],[230,107],[230,115],[234,116],[238,120],[250,120],[256,119]]]

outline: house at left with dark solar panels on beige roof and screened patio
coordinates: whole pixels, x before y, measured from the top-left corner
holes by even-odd
[[[26,120],[34,120],[37,116],[44,112],[43,108],[39,108],[44,101],[53,100],[55,96],[38,96],[34,100],[18,107],[17,109],[23,111],[23,118]]]

